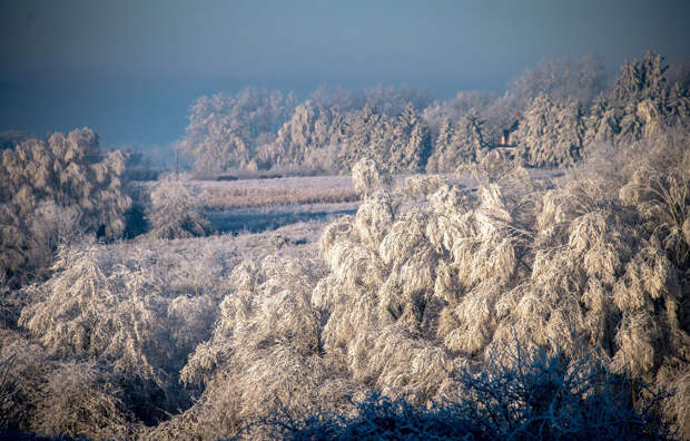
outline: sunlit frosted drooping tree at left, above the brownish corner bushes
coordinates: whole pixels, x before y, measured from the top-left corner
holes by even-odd
[[[63,247],[53,271],[24,290],[29,301],[19,320],[47,353],[106,366],[119,379],[128,409],[149,424],[187,405],[178,372],[208,337],[213,297],[205,291],[178,295],[155,271],[150,253],[114,262],[86,243]]]

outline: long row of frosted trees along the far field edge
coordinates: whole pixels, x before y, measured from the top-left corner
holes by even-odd
[[[394,171],[453,171],[511,134],[526,166],[572,165],[586,146],[640,139],[661,125],[688,120],[688,71],[666,76],[653,52],[625,63],[611,87],[590,58],[544,61],[506,92],[460,92],[447,101],[410,88],[359,92],[319,89],[294,95],[245,89],[199,98],[181,146],[199,170],[293,169],[349,173],[367,157]],[[513,127],[515,128],[515,127]]]

